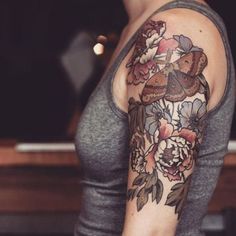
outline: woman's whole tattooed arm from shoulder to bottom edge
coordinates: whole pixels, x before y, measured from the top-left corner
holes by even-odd
[[[212,49],[203,41],[204,34],[214,35],[198,17],[193,24],[178,14],[154,16],[140,30],[127,64],[130,164],[123,236],[175,235],[214,85]]]

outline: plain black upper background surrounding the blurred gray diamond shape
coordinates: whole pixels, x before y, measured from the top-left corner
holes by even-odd
[[[235,55],[232,1],[208,2],[225,20]],[[96,59],[99,66],[82,95],[61,58],[79,32],[88,32],[95,44],[100,34],[118,37],[126,22],[121,0],[1,0],[0,138],[71,139],[71,117],[84,107],[100,79],[104,58]],[[108,47],[113,49],[115,42]],[[236,132],[231,137],[235,139]]]

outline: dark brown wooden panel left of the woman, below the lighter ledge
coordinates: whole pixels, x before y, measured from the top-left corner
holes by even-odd
[[[0,213],[78,212],[79,180],[75,168],[1,168]]]

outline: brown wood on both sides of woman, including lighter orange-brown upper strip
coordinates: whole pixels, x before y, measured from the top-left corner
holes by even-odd
[[[78,212],[81,192],[74,152],[18,153],[0,145],[0,213]],[[236,208],[236,154],[228,154],[209,212]]]

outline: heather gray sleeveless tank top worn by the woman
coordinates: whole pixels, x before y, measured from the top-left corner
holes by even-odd
[[[208,114],[205,137],[176,233],[177,236],[201,236],[204,235],[200,232],[201,221],[227,152],[234,111],[234,66],[219,15],[208,6],[191,0],[170,2],[155,13],[172,8],[192,9],[207,16],[222,36],[228,61],[225,92]],[[118,236],[123,229],[129,163],[128,115],[116,106],[111,88],[114,74],[133,46],[137,33],[100,80],[78,124],[75,142],[83,170],[83,196],[75,226],[77,236]]]

